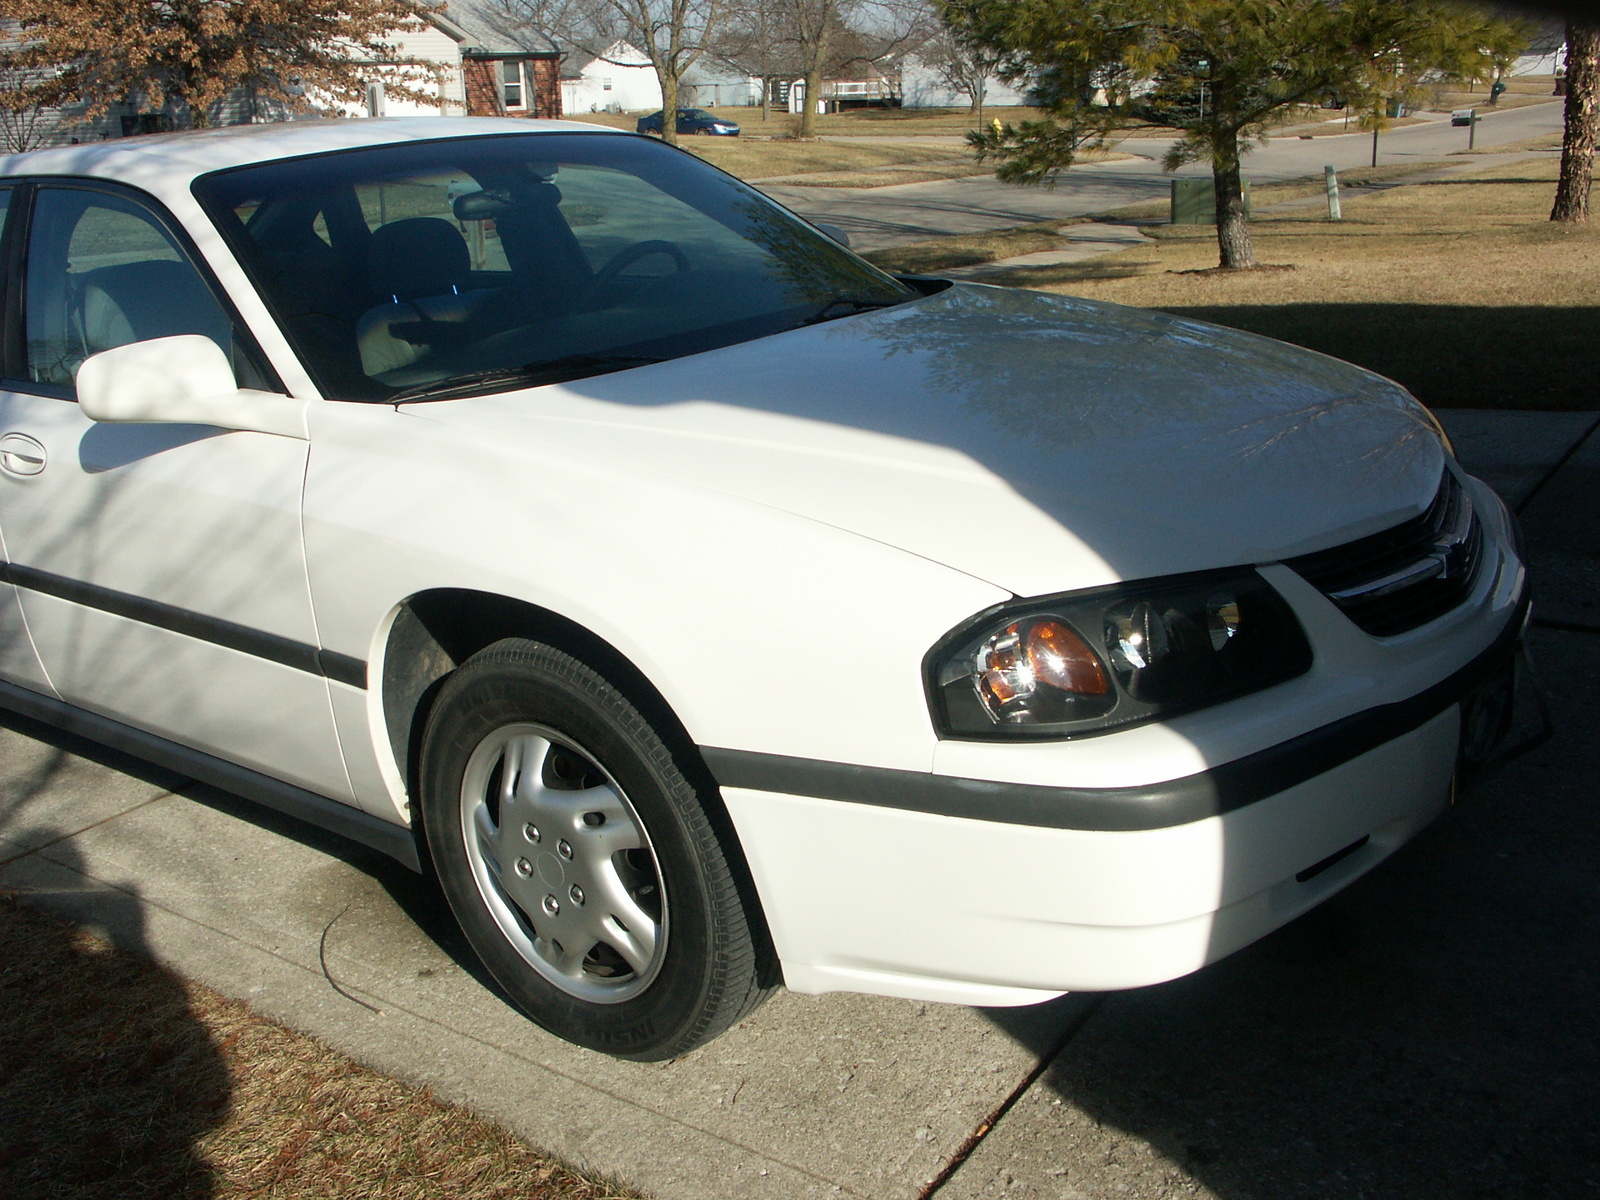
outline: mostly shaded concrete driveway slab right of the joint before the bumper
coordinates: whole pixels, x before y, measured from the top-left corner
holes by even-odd
[[[1042,1080],[1062,1102],[957,1192],[1600,1197],[1600,638],[1534,651],[1552,744],[1272,938],[1107,995]]]

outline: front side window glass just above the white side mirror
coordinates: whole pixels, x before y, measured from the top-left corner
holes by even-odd
[[[182,250],[118,195],[42,187],[27,243],[27,378],[70,384],[85,358],[198,333],[230,357],[232,322]]]

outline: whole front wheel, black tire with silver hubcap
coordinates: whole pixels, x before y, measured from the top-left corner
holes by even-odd
[[[422,734],[422,821],[462,933],[557,1037],[659,1061],[766,995],[707,803],[605,677],[506,640],[440,690]]]

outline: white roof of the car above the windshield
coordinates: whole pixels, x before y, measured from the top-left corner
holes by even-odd
[[[365,146],[506,133],[622,131],[603,125],[525,117],[378,117],[229,125],[218,130],[114,138],[5,155],[0,157],[0,176],[90,176],[122,179],[152,192],[171,192],[187,190],[197,176],[229,166]]]

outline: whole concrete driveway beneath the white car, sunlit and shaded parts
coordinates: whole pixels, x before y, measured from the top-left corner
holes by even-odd
[[[939,1200],[1592,1195],[1600,640],[1571,630],[1600,629],[1600,414],[1442,418],[1526,502],[1562,731],[1320,915],[1173,984],[779,994],[685,1059],[616,1062],[510,1011],[410,872],[14,717],[0,886],[662,1200],[912,1200],[984,1133]],[[325,931],[381,1013],[323,976]]]

